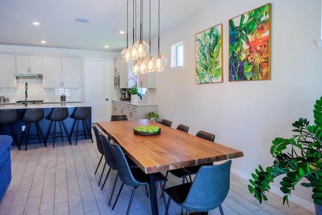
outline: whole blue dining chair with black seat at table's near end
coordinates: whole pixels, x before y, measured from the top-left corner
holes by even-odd
[[[221,203],[225,200],[230,183],[231,160],[220,165],[200,167],[193,182],[180,184],[165,189],[169,195],[166,208],[168,214],[170,201],[173,200],[182,208],[195,212],[206,212],[219,207],[223,215]]]

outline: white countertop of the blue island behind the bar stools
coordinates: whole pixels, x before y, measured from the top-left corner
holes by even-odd
[[[30,109],[30,108],[57,108],[57,107],[91,107],[87,103],[83,102],[56,102],[56,103],[43,103],[41,105],[29,104],[27,107],[25,105],[15,105],[14,103],[0,103],[0,109]]]

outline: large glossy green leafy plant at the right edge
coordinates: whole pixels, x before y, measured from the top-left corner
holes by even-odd
[[[271,154],[274,164],[264,169],[259,166],[250,179],[249,191],[262,203],[267,200],[265,191],[269,191],[270,182],[280,175],[285,175],[280,182],[280,189],[285,194],[283,204],[288,205],[288,196],[295,185],[306,178],[308,182],[301,183],[304,187],[312,187],[312,199],[316,214],[321,212],[322,205],[322,97],[314,105],[314,123],[300,118],[292,125],[296,132],[292,138],[275,138]],[[289,206],[289,205],[288,205]]]

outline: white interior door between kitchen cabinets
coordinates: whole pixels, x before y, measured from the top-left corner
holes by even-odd
[[[111,118],[111,61],[85,58],[85,102],[92,106],[92,123]]]

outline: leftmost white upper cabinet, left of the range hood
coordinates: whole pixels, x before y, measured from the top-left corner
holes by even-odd
[[[16,55],[0,54],[0,88],[17,88]]]

